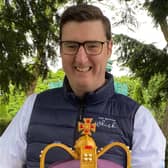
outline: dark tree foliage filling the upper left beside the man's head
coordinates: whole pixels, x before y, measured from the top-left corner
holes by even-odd
[[[28,88],[56,61],[58,8],[67,0],[4,1],[0,10],[0,90]]]

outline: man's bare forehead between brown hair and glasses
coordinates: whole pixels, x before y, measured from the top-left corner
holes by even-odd
[[[70,21],[62,28],[62,40],[87,41],[105,40],[105,30],[101,21]]]

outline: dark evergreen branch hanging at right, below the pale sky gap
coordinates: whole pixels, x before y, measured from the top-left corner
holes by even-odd
[[[157,49],[152,44],[143,44],[126,35],[114,37],[119,54],[119,62],[128,66],[137,77],[141,77],[145,84],[156,73],[168,75],[168,53]]]

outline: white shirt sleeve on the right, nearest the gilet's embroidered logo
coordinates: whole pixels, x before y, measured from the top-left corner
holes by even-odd
[[[140,106],[134,122],[132,167],[164,168],[166,139],[156,120]]]

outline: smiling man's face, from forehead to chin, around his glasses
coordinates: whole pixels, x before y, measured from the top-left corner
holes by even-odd
[[[112,52],[112,42],[107,42],[102,22],[68,22],[63,26],[61,41],[105,42],[102,44],[102,51],[96,55],[87,54],[82,45],[75,54],[65,53],[62,48],[60,50],[63,69],[77,96],[100,88],[105,83],[106,62]]]

